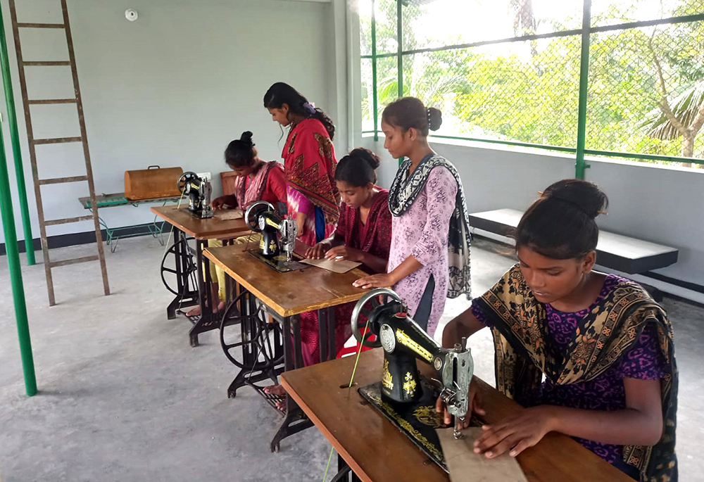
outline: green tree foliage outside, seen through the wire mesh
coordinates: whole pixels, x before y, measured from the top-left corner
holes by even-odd
[[[396,51],[396,1],[377,4],[379,53]],[[643,20],[634,16],[638,4],[616,2],[592,25]],[[519,34],[534,32],[539,20],[532,16],[532,1],[511,0],[509,6],[507,21],[513,28]],[[404,25],[414,25],[433,5],[410,1],[403,8]],[[697,13],[704,13],[700,0],[670,0],[662,4],[660,17]],[[565,25],[574,20],[565,19]],[[560,30],[554,20],[551,25]],[[404,49],[423,47],[411,29],[403,37]],[[446,39],[446,44],[452,41]],[[407,55],[403,94],[440,107],[444,134],[574,147],[581,41],[572,35],[503,44],[505,48]],[[382,109],[398,96],[397,59],[377,62]],[[703,20],[593,33],[588,85],[587,148],[704,158]],[[371,113],[368,106],[364,110]]]

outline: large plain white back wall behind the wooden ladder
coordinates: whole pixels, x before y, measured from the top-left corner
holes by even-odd
[[[20,22],[61,21],[59,0],[21,0],[17,4]],[[2,6],[32,234],[37,238],[10,14],[7,2]],[[137,10],[139,20],[125,20],[126,8]],[[96,193],[123,191],[125,170],[151,164],[210,171],[215,191],[219,191],[218,173],[227,169],[222,153],[244,130],[254,133],[263,158],[280,159],[281,132],[262,104],[266,89],[277,81],[292,84],[329,111],[341,132],[336,147],[346,149],[344,0],[68,0],[68,9]],[[68,58],[65,42],[57,37],[61,33],[27,31],[23,35],[25,60]],[[31,69],[34,72],[28,70],[27,74],[30,98],[70,96],[68,68]],[[6,109],[4,102],[1,104],[11,160]],[[77,135],[74,106],[33,107],[32,114],[35,137]],[[42,178],[81,173],[80,144],[39,146],[37,155]],[[47,219],[87,214],[77,201],[87,195],[86,183],[44,186],[42,195]],[[101,216],[111,227],[153,219],[146,206],[106,208]],[[15,220],[22,239],[16,201]],[[48,233],[90,229],[91,222],[82,222],[49,227]]]

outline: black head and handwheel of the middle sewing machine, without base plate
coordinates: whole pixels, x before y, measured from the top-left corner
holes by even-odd
[[[244,221],[249,229],[262,234],[259,243],[261,255],[275,258],[282,251],[287,261],[296,247],[296,221],[284,220],[271,203],[256,201],[244,212]]]

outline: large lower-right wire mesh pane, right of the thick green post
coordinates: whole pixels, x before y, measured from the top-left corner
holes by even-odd
[[[591,35],[587,148],[704,158],[704,23]]]

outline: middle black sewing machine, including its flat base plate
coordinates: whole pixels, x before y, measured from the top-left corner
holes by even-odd
[[[256,201],[244,212],[244,222],[262,235],[258,253],[253,253],[257,258],[279,272],[306,267],[293,260],[298,234],[295,220],[284,220],[271,203]]]

